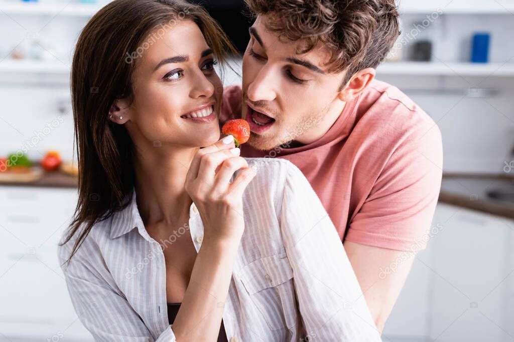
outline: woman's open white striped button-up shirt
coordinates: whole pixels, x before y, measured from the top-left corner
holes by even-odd
[[[245,231],[223,313],[230,341],[380,341],[331,219],[301,171],[285,159],[248,158],[258,168],[243,196]],[[162,248],[130,205],[96,224],[68,266],[69,294],[100,341],[174,341]],[[137,229],[136,229],[137,228]],[[194,204],[189,227],[200,249]],[[61,264],[76,237],[59,247]],[[166,248],[173,243],[161,242]]]

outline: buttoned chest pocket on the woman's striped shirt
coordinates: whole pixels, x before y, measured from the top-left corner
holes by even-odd
[[[238,278],[271,330],[294,324],[297,310],[293,271],[285,253],[252,261]]]

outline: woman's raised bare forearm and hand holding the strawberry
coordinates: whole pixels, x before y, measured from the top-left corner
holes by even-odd
[[[243,192],[255,176],[227,136],[200,149],[186,176],[186,191],[204,223],[204,241],[173,323],[179,341],[215,341],[232,278],[232,269],[245,229]],[[233,183],[235,171],[245,169]]]

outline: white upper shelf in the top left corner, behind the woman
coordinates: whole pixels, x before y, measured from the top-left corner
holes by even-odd
[[[24,3],[24,2],[0,2],[0,16],[5,14],[35,14],[35,15],[68,15],[68,16],[93,16],[105,4],[69,4],[62,3]],[[3,12],[3,13],[2,13]]]

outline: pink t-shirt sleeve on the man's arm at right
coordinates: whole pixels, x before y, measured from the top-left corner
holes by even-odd
[[[438,127],[427,122],[398,145],[350,222],[346,240],[400,251],[426,248],[443,174]]]

